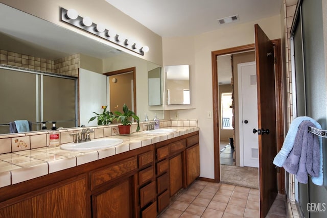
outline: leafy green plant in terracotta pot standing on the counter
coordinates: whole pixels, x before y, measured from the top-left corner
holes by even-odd
[[[136,132],[139,130],[139,118],[135,115],[135,113],[128,109],[127,105],[123,106],[123,113],[120,111],[113,112],[114,116],[118,122],[122,125],[119,125],[119,133],[122,135],[130,134],[130,125],[132,124],[132,118],[137,122]]]

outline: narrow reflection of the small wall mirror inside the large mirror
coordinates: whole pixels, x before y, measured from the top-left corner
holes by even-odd
[[[162,105],[161,67],[148,72],[149,106]]]

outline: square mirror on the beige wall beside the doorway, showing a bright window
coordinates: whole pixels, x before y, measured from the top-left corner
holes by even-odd
[[[190,104],[190,66],[165,66],[168,105]]]

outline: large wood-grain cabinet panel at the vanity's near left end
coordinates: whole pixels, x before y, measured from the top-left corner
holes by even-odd
[[[89,217],[85,176],[18,197],[18,203],[0,209],[0,217]],[[21,198],[25,198],[21,201]],[[12,200],[16,201],[16,200]]]

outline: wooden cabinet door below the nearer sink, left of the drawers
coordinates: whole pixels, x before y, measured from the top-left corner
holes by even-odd
[[[130,178],[123,180],[118,185],[92,198],[94,203],[94,217],[132,217],[132,189]]]

